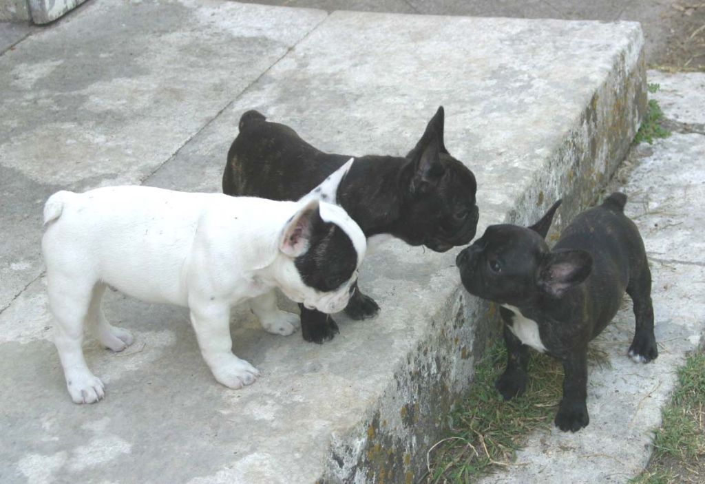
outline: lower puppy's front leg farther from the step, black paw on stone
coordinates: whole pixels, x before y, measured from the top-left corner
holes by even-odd
[[[563,399],[558,406],[556,426],[567,432],[577,432],[590,422],[587,414],[587,350],[563,359]]]

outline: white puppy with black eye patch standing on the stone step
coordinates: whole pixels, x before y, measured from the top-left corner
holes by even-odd
[[[259,376],[231,350],[230,309],[250,299],[265,330],[289,335],[299,317],[276,308],[274,288],[325,313],[348,304],[367,248],[335,200],[352,160],[298,202],[152,187],[57,192],[44,206],[42,254],[55,343],[76,403],[104,397],[81,348],[83,328],[121,351],[127,330],[105,318],[107,285],[147,302],[188,306],[202,355],[223,385]]]

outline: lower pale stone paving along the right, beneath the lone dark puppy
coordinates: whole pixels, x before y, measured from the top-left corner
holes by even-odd
[[[653,95],[671,119],[701,123],[705,75],[664,75],[649,71]],[[651,431],[661,423],[661,407],[677,381],[676,368],[686,352],[704,342],[705,301],[705,132],[673,133],[652,147],[635,147],[621,188],[629,196],[626,212],[639,226],[653,276],[659,356],[654,364],[627,357],[634,315],[625,297],[623,310],[594,346],[609,355],[611,366],[589,374],[590,425],[571,435],[553,430],[535,433],[517,465],[482,483],[625,483],[651,454]],[[560,395],[556,396],[556,402]]]

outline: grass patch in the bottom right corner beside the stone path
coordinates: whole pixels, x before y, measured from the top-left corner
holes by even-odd
[[[702,483],[705,480],[705,354],[690,354],[678,385],[661,411],[649,466],[632,483]]]

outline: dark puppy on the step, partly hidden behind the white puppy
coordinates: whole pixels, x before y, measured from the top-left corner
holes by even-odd
[[[223,193],[298,200],[350,156],[312,147],[286,125],[269,123],[257,111],[240,118],[223,173]],[[364,235],[388,234],[436,252],[467,244],[477,228],[474,175],[443,144],[443,107],[429,121],[416,147],[405,157],[368,155],[341,182],[337,203]],[[338,333],[332,318],[301,309],[302,335],[321,343]],[[372,317],[379,306],[356,290],[345,313]]]

